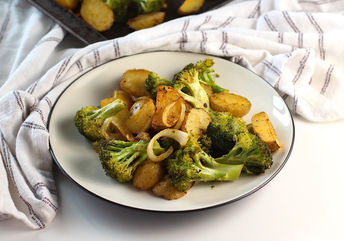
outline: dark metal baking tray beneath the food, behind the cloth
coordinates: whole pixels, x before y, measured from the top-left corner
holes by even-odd
[[[26,1],[30,2],[37,9],[42,11],[53,21],[55,21],[64,29],[66,29],[67,32],[71,33],[80,41],[82,41],[85,45],[93,44],[108,39],[114,39],[117,37],[122,37],[133,32],[133,30],[127,26],[126,22],[130,17],[134,16],[134,12],[129,11],[127,14],[127,18],[123,20],[123,22],[114,23],[109,30],[100,33],[88,24],[86,24],[79,17],[75,16],[67,9],[61,7],[61,5],[56,3],[54,0]],[[183,1],[184,0],[166,0],[168,7],[166,8],[166,10],[164,10],[166,13],[164,22],[181,17],[181,15],[177,14],[177,9],[183,3]],[[203,7],[196,14],[218,8],[221,5],[230,1],[233,0],[205,0]]]

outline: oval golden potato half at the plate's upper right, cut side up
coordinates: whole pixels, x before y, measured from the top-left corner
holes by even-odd
[[[251,102],[232,93],[215,93],[209,97],[210,107],[217,112],[229,112],[234,117],[243,117],[251,109]]]

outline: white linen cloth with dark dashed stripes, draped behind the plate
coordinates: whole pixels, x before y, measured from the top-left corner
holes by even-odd
[[[234,1],[128,36],[63,49],[66,32],[0,2],[0,219],[44,228],[58,209],[47,117],[63,89],[109,60],[169,50],[225,57],[268,81],[293,115],[344,118],[344,0]],[[61,43],[62,42],[62,43]],[[68,46],[67,46],[68,47]]]

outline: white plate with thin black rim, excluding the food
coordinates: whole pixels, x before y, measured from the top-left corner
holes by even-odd
[[[83,190],[110,202],[150,211],[182,212],[227,204],[243,198],[268,183],[286,163],[294,142],[294,124],[281,96],[264,79],[251,71],[213,57],[217,83],[231,93],[247,97],[252,108],[244,117],[265,111],[283,148],[273,153],[273,165],[260,176],[242,173],[232,182],[197,182],[184,197],[167,201],[150,191],[138,191],[131,183],[119,183],[105,175],[98,155],[80,135],[73,119],[84,106],[98,106],[118,88],[121,75],[128,69],[148,69],[172,79],[185,65],[203,60],[206,55],[185,52],[151,52],[110,61],[87,72],[69,85],[56,101],[49,119],[51,153],[58,167]],[[215,186],[212,189],[212,186]]]

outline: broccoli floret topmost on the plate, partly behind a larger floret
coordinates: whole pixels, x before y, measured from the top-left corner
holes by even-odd
[[[184,67],[184,70],[191,69],[191,68],[198,68],[200,70],[199,72],[199,80],[200,83],[203,83],[205,85],[209,85],[212,87],[212,90],[214,93],[226,93],[228,92],[228,89],[222,88],[218,86],[215,83],[215,77],[218,77],[218,74],[214,74],[214,69],[213,69],[214,61],[211,58],[205,58],[204,60],[198,61],[196,64],[188,64]]]

